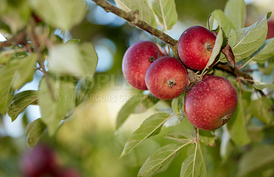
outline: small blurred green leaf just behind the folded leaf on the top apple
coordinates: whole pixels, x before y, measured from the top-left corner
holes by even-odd
[[[214,22],[213,24],[217,26],[217,24],[219,25],[219,27],[221,27],[221,29],[223,29],[223,32],[225,32],[225,35],[227,36],[230,32],[231,29],[234,29],[234,25],[232,23],[232,21],[230,21],[230,19],[225,16],[225,14],[223,14],[223,11],[221,10],[214,10],[212,12],[212,16],[214,18]]]

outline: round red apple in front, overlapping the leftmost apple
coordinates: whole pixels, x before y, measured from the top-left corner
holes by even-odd
[[[160,57],[147,68],[145,83],[153,96],[170,100],[184,91],[188,73],[184,65],[174,57]]]

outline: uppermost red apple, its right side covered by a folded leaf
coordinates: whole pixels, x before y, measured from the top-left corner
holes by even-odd
[[[203,70],[208,64],[216,36],[201,26],[186,29],[178,41],[178,54],[182,62],[194,70]]]

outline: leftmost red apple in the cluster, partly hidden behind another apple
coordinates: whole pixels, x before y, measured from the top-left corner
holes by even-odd
[[[145,72],[161,52],[151,41],[139,41],[129,46],[123,57],[122,70],[127,82],[139,90],[147,90]]]

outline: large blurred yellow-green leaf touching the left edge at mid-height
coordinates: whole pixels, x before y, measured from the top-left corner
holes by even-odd
[[[32,81],[36,55],[13,59],[0,68],[0,113],[5,114],[12,101],[12,92]]]

